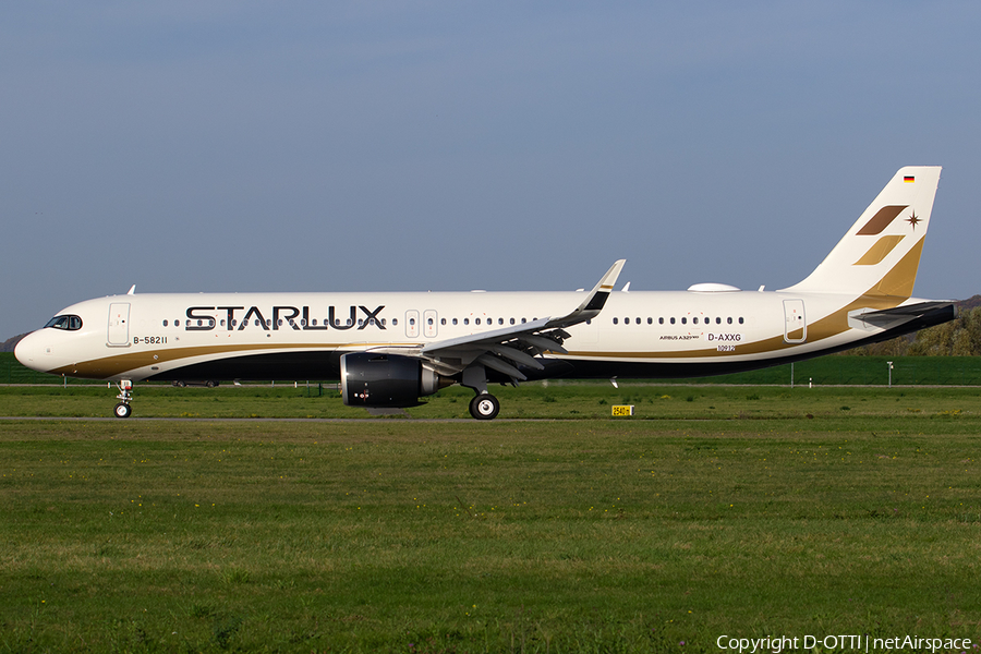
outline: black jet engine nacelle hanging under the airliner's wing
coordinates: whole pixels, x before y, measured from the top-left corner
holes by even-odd
[[[349,407],[414,407],[453,384],[419,359],[351,352],[341,356],[341,395]]]

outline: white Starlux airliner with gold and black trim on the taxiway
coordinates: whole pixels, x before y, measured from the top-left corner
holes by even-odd
[[[146,293],[87,300],[16,347],[35,371],[133,383],[340,379],[344,404],[411,407],[441,388],[550,378],[700,377],[811,359],[956,316],[911,296],[940,167],[901,168],[806,279],[777,291]]]

